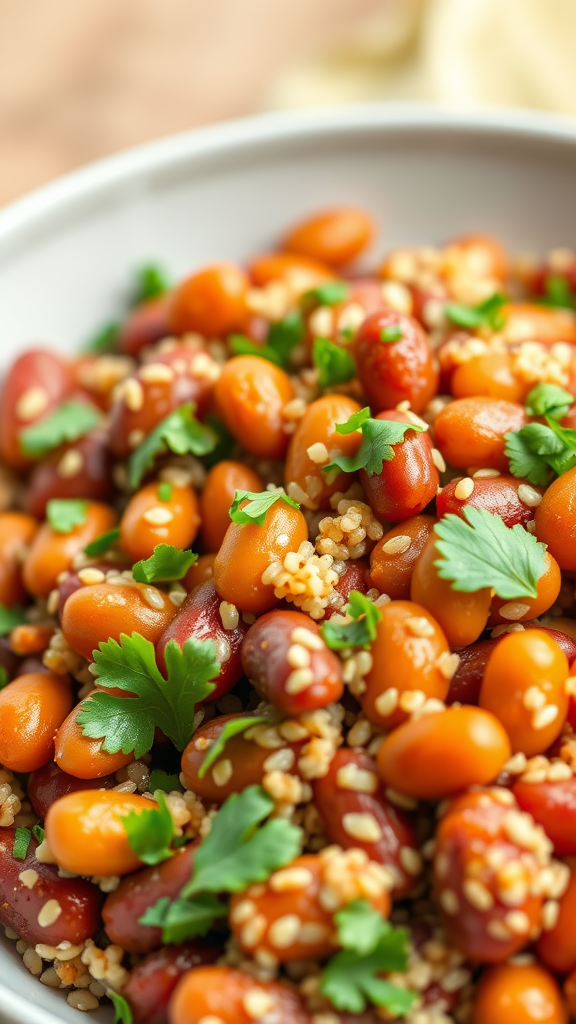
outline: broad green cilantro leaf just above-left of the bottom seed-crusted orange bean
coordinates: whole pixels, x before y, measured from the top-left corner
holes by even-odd
[[[254,882],[265,882],[278,867],[293,860],[301,847],[299,828],[285,818],[274,818],[257,827],[273,810],[274,801],[259,785],[249,785],[229,797],[197,850],[192,880],[180,896],[242,892]]]

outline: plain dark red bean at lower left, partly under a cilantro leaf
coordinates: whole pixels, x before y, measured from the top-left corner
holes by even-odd
[[[149,906],[168,896],[175,899],[192,878],[197,843],[177,850],[173,857],[154,867],[145,867],[123,879],[118,889],[107,897],[102,920],[107,935],[129,953],[149,953],[162,943],[162,931],[140,925]]]

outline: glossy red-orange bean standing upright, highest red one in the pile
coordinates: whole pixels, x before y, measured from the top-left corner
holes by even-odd
[[[398,340],[382,340],[382,332],[398,329]],[[435,394],[438,370],[423,329],[417,321],[393,309],[371,313],[355,341],[358,378],[372,413],[409,401],[421,413]]]

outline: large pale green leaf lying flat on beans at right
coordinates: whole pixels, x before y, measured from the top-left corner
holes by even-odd
[[[545,571],[545,544],[520,524],[505,526],[486,509],[468,505],[462,512],[466,521],[449,513],[435,526],[439,577],[466,594],[492,587],[504,601],[536,597]]]

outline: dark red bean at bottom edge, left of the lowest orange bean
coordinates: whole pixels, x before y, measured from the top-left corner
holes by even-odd
[[[213,964],[221,952],[204,942],[184,942],[150,953],[130,971],[122,987],[134,1024],[168,1024],[168,1004],[182,975],[194,967]]]

